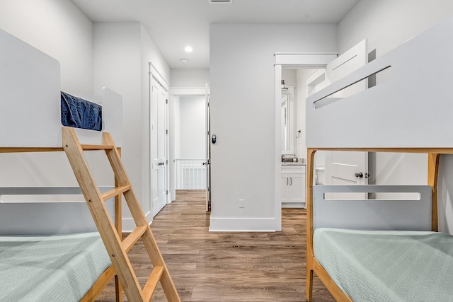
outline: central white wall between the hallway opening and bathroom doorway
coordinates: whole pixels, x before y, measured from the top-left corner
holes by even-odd
[[[211,130],[217,136],[211,230],[280,228],[274,53],[336,52],[336,45],[335,25],[210,25]]]

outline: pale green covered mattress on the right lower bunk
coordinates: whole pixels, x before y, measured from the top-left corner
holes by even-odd
[[[353,301],[453,301],[453,236],[316,228],[314,255]]]

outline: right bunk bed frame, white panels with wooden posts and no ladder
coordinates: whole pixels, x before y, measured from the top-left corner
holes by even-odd
[[[315,228],[437,231],[439,158],[441,154],[453,153],[453,42],[449,38],[452,35],[453,18],[307,98],[308,301],[312,300],[314,273],[337,301],[352,301],[316,260]],[[332,99],[333,102],[325,100],[329,95],[384,69],[391,69],[388,81],[347,98]],[[317,106],[321,100],[327,105]],[[365,116],[363,127],[356,126],[357,119],[340,112]],[[350,129],[354,129],[353,135]],[[428,183],[427,186],[314,185],[314,155],[320,150],[426,153]],[[419,192],[421,198],[418,202],[328,201],[324,200],[325,192]]]

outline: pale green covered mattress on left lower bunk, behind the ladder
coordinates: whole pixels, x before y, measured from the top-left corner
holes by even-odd
[[[110,264],[97,232],[0,237],[0,301],[79,301]]]

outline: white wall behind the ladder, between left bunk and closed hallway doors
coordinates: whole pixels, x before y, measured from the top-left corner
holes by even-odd
[[[143,25],[137,22],[94,23],[94,62],[95,88],[107,86],[122,95],[122,161],[151,221],[148,63],[159,68],[163,77],[169,77],[170,69]],[[124,229],[130,231],[134,224],[127,209],[123,217]]]

